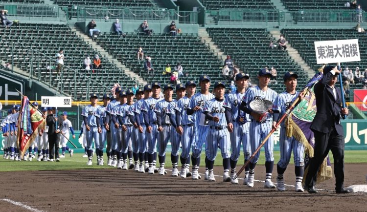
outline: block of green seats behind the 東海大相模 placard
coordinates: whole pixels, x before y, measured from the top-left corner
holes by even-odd
[[[367,55],[362,54],[367,49],[367,37],[365,33],[359,33],[355,29],[335,29],[337,33],[331,33],[324,29],[283,29],[281,31],[289,43],[296,48],[303,60],[313,69],[317,70],[321,64],[316,62],[314,41],[358,39],[361,52],[361,61],[342,63],[342,67],[355,70],[358,66],[361,71],[367,68]],[[362,84],[351,85],[351,89],[363,88]]]

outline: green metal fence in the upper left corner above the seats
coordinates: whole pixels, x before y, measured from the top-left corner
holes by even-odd
[[[0,2],[0,9],[8,11],[9,19],[34,21],[68,21],[68,7],[46,4],[16,4]]]

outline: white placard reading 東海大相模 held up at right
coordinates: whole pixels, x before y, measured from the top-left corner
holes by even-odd
[[[361,61],[358,39],[315,41],[317,64]]]

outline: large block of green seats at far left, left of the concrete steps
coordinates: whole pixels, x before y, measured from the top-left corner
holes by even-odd
[[[63,85],[63,92],[70,94],[72,97],[74,97],[75,92],[76,100],[85,100],[85,97],[89,95],[87,93],[88,89],[89,92],[96,92],[100,96],[103,95],[103,86],[92,86],[95,83],[92,81],[88,82],[89,79],[99,82],[108,88],[115,83],[123,85],[124,88],[130,88],[136,83],[134,79],[125,75],[115,64],[102,57],[90,45],[77,37],[67,25],[28,23],[10,28],[1,28],[0,30],[2,35],[0,60],[11,63],[12,42],[14,42],[15,66],[28,73],[32,66],[32,77],[34,79],[40,79],[46,85],[59,90],[61,85]],[[31,49],[33,49],[33,61],[31,61]],[[65,67],[63,81],[60,81],[60,83],[61,74],[57,75],[56,70],[52,67],[51,71],[47,70],[47,66],[57,65],[55,60],[59,49],[64,49],[64,64],[78,72],[75,73],[75,71]],[[41,52],[44,55],[37,52]],[[95,54],[98,54],[103,69],[97,69],[95,73],[92,73],[92,70],[85,70],[82,65],[86,54],[90,55],[91,59]],[[88,77],[81,74],[85,74]],[[89,85],[91,86],[89,87]],[[108,89],[105,91],[108,91]]]

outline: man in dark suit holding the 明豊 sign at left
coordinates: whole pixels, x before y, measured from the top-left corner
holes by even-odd
[[[52,107],[51,113],[46,117],[46,125],[48,126],[48,149],[50,153],[50,161],[60,161],[59,158],[59,144],[60,144],[60,130],[57,129],[57,114],[56,108]]]

